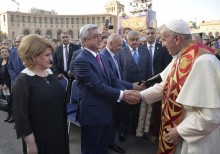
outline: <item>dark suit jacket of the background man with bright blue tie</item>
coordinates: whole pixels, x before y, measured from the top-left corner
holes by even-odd
[[[139,61],[135,63],[128,46],[119,53],[119,61],[125,81],[134,83],[147,80],[151,75],[150,55],[143,46],[138,47]]]

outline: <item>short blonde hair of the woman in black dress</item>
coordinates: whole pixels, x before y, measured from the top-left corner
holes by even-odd
[[[54,51],[53,44],[45,38],[30,34],[25,36],[19,45],[18,52],[25,67],[31,68],[35,65],[33,57],[42,54],[46,48],[51,48]]]

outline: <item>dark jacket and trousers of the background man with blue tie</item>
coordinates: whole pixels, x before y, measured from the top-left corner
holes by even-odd
[[[119,53],[119,61],[122,67],[124,80],[127,82],[139,82],[147,80],[151,75],[150,55],[147,49],[143,46],[138,47],[139,60],[135,63],[129,46],[126,46]],[[129,114],[132,112],[132,128],[136,130],[139,117],[140,104],[129,105],[122,103],[120,109],[120,131],[126,133],[129,126]]]

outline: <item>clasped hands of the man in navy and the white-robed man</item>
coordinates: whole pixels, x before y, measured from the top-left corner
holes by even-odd
[[[136,91],[136,90],[124,91],[122,100],[126,101],[128,104],[137,104],[141,100],[140,91]]]

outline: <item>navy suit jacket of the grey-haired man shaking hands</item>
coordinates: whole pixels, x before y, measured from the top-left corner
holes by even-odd
[[[108,60],[100,55],[104,70],[96,58],[84,49],[75,59],[78,80],[79,122],[81,125],[106,125],[113,121],[113,103],[125,88],[112,74]]]

